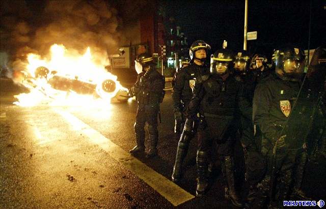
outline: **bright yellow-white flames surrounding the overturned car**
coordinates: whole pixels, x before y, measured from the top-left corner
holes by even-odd
[[[15,95],[18,102],[14,104],[19,106],[46,105],[96,105],[110,103],[111,99],[119,91],[127,91],[117,76],[107,72],[103,63],[108,63],[106,57],[93,57],[90,47],[83,55],[76,53],[75,50],[67,50],[64,45],[53,44],[50,47],[49,59],[42,58],[39,54],[30,53],[27,56],[25,79],[22,84],[30,89],[28,94]],[[100,60],[100,64],[95,62]],[[37,77],[36,69],[45,67],[49,70],[46,77]],[[74,89],[61,91],[55,88],[49,82],[53,76],[67,78],[70,81],[78,80],[88,86],[94,87],[93,94],[77,94]],[[103,81],[110,79],[114,81],[116,88],[113,92],[105,92],[102,89]],[[94,95],[97,94],[97,98]],[[99,96],[99,97],[98,97]],[[95,105],[92,104],[92,105]]]

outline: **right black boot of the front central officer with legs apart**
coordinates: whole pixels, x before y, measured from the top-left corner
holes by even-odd
[[[224,162],[225,177],[227,180],[227,187],[225,189],[225,198],[229,199],[234,206],[242,207],[243,204],[238,195],[238,192],[235,189],[235,180],[234,180],[234,165],[233,160],[230,156],[225,157]]]

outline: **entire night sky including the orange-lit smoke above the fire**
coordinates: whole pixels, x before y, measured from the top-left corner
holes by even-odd
[[[1,63],[17,70],[24,68],[23,55],[45,55],[53,43],[79,52],[90,46],[97,57],[107,57],[135,38],[135,20],[153,4],[164,6],[167,19],[175,18],[188,45],[201,39],[214,53],[227,40],[228,48],[243,48],[244,0],[0,2],[1,51],[10,59]],[[273,49],[285,44],[308,49],[310,3],[249,0],[248,32],[257,31],[258,39],[248,41],[248,50],[270,58]],[[311,5],[310,48],[314,49],[325,43],[326,1],[313,0]]]

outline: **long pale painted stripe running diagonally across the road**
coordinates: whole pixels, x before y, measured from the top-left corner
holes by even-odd
[[[99,145],[104,151],[110,154],[112,158],[132,171],[135,175],[141,178],[160,195],[165,197],[174,206],[180,205],[195,197],[194,195],[188,193],[187,191],[171,182],[165,176],[157,173],[146,164],[142,163],[137,158],[131,156],[120,146],[100,134],[98,131],[92,129],[89,125],[80,121],[74,115],[62,110],[57,110],[57,112],[70,123],[73,130],[82,132],[88,136],[91,142]]]

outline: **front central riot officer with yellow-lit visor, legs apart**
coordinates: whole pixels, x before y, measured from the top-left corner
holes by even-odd
[[[243,206],[235,189],[233,147],[237,129],[235,114],[237,108],[248,109],[249,104],[241,95],[241,83],[230,76],[233,68],[233,53],[220,49],[211,55],[210,73],[196,79],[194,97],[187,109],[188,117],[199,112],[197,189],[202,196],[208,186],[208,152],[216,140],[224,179],[225,197],[236,206]]]

